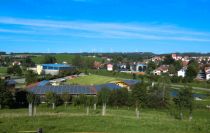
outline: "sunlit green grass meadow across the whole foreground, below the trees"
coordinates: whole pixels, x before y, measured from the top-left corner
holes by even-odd
[[[0,110],[0,132],[31,131],[43,128],[46,133],[70,132],[110,132],[110,133],[208,133],[210,132],[210,111],[197,109],[194,120],[180,121],[170,115],[168,110],[141,110],[141,119],[135,118],[134,109],[108,108],[102,117],[100,108],[90,110],[86,116],[85,109],[63,106],[56,110],[40,106],[37,116],[28,117],[27,109]]]

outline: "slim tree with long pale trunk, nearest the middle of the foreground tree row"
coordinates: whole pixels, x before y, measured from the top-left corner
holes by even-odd
[[[101,91],[98,92],[99,99],[102,103],[102,116],[106,115],[106,105],[110,98],[110,89],[102,88]]]

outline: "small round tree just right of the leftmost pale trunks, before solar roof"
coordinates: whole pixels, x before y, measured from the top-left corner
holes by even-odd
[[[58,102],[57,94],[49,91],[45,94],[45,98],[48,104],[52,104],[52,109],[55,109],[55,105]]]

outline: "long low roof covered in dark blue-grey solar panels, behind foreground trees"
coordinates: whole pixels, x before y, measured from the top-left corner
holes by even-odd
[[[47,92],[54,92],[56,94],[69,93],[72,95],[87,94],[95,95],[95,88],[91,86],[80,86],[80,85],[63,85],[63,86],[37,86],[30,89],[34,94],[44,95]]]

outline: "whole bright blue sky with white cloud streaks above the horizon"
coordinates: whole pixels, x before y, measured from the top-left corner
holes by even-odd
[[[210,52],[210,0],[0,0],[0,51]]]

